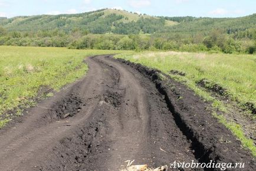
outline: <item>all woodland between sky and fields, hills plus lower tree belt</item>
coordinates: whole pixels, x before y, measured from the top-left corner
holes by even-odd
[[[255,26],[256,14],[239,18],[152,17],[101,9],[0,18],[0,45],[253,54]]]

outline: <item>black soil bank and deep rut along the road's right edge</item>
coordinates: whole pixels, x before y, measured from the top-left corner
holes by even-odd
[[[175,116],[180,130],[192,141],[192,148],[199,162],[208,163],[210,160],[214,160],[216,162],[235,163],[235,161],[241,161],[242,158],[247,158],[243,162],[251,165],[251,169],[255,166],[255,160],[249,157],[249,152],[241,149],[241,143],[229,130],[212,118],[209,105],[196,97],[195,93],[186,88],[185,85],[172,80],[169,75],[161,73],[159,70],[122,59],[119,61],[138,70],[156,84],[157,90],[165,96],[165,101]],[[165,75],[168,80],[162,81],[158,77],[159,73]],[[224,92],[217,85],[214,87],[214,90]]]

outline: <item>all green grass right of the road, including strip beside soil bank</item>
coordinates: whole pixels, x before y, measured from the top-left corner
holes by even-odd
[[[256,106],[256,57],[253,55],[236,54],[204,54],[188,52],[130,52],[119,54],[116,58],[124,58],[134,63],[140,63],[157,68],[170,77],[178,80],[195,91],[207,101],[211,101],[216,111],[213,113],[220,123],[224,124],[241,141],[242,145],[250,149],[256,156],[256,146],[250,137],[245,136],[241,126],[225,117],[229,106],[227,101],[212,96],[212,93],[199,87],[201,80],[207,79],[211,83],[224,88],[229,101],[234,101],[243,107],[245,103]],[[174,71],[174,72],[173,72]],[[177,74],[178,73],[178,74]],[[214,84],[208,86],[214,86]],[[212,87],[206,87],[212,88]],[[224,103],[225,102],[225,103]],[[247,111],[250,120],[255,121],[255,115]]]

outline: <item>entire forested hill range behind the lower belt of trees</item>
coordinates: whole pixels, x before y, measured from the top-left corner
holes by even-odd
[[[256,14],[238,18],[152,17],[117,9],[100,9],[81,14],[0,18],[0,27],[7,31],[21,32],[57,28],[69,33],[79,29],[92,34],[208,34],[212,29],[222,29],[227,34],[239,33],[238,37],[244,37],[256,28]]]

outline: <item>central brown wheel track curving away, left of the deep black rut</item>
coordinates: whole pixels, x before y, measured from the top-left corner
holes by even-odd
[[[58,160],[61,170],[120,170],[126,160],[152,167],[168,165],[173,159],[196,161],[191,142],[176,126],[153,83],[109,57],[90,60],[99,63],[106,77],[103,96],[81,130],[83,135],[89,136],[90,130],[102,122],[99,131],[104,131],[93,137],[93,142],[81,140],[83,135],[76,133],[68,140],[70,143],[58,144],[55,147],[57,157],[41,165],[42,170],[60,169],[55,167]],[[90,151],[74,152],[77,146],[80,146],[78,149],[90,146]],[[80,162],[76,161],[77,156]]]

